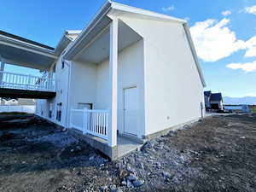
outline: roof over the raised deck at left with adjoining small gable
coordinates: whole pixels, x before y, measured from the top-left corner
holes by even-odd
[[[0,61],[40,70],[49,67],[58,59],[78,35],[78,30],[66,31],[55,48],[27,38],[0,31]]]

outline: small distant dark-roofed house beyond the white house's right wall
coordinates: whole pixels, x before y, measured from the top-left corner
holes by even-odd
[[[212,93],[212,91],[204,91],[205,105],[207,109],[223,110],[223,97],[221,93]]]

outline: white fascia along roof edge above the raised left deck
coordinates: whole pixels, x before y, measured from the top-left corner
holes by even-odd
[[[38,47],[37,45],[27,44],[26,42],[22,42],[20,40],[16,40],[13,38],[8,38],[2,35],[0,35],[0,44],[8,45],[10,47],[15,47],[17,49],[27,50],[32,53],[48,56],[54,59],[58,58],[56,55],[54,55],[54,51]]]

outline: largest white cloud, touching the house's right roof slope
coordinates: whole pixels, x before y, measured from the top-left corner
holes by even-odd
[[[229,19],[205,20],[196,22],[190,28],[195,48],[203,61],[218,61],[230,56],[239,49],[246,49],[242,40],[236,39],[236,33],[227,26]]]

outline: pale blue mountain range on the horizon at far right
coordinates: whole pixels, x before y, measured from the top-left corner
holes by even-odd
[[[256,105],[256,96],[245,96],[245,97],[230,97],[224,96],[224,104],[226,105]]]

